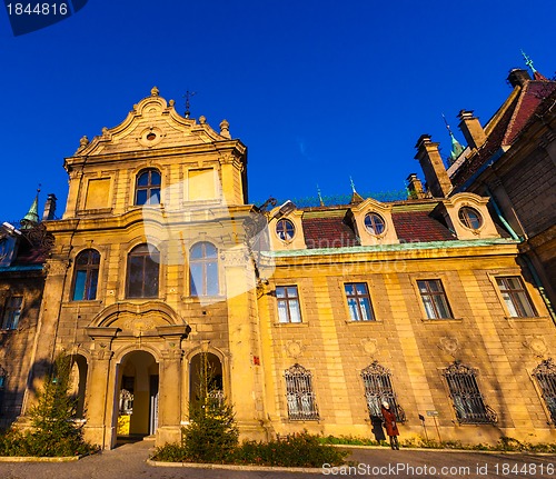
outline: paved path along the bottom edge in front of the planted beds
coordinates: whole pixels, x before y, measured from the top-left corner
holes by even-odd
[[[334,470],[300,473],[274,470],[245,471],[152,467],[146,463],[152,447],[153,442],[151,441],[128,443],[73,462],[0,462],[0,479],[316,479],[324,476],[331,478],[371,477],[376,479],[490,479],[497,477],[505,479],[553,479],[556,477],[555,456],[355,449],[349,459],[358,465],[357,469],[348,471],[349,475],[341,475]]]

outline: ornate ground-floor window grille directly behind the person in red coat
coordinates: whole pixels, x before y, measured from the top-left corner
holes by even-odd
[[[390,371],[374,361],[361,371],[361,378],[370,419],[383,417],[380,406],[383,401],[387,401],[390,405],[390,411],[395,411],[398,422],[405,422],[406,415],[396,400]]]

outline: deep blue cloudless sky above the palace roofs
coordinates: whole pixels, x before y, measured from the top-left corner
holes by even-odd
[[[553,0],[89,0],[13,37],[0,11],[3,201],[21,218],[38,183],[67,198],[63,158],[115,127],[157,86],[248,147],[249,199],[399,190],[421,133],[456,137],[460,109],[485,123],[524,68],[553,77]],[[421,176],[421,174],[420,174]]]

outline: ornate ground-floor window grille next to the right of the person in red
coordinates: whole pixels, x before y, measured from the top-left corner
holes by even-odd
[[[485,405],[473,368],[454,362],[444,371],[456,417],[461,425],[487,425],[496,422],[496,412]]]

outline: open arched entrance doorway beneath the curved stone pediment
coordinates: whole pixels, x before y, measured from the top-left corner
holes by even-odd
[[[155,435],[158,428],[159,368],[147,351],[128,352],[118,368],[118,438]]]

